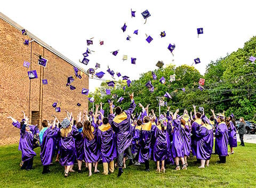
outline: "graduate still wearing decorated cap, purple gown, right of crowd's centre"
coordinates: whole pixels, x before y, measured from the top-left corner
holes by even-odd
[[[167,132],[167,119],[159,118],[157,122],[157,127],[154,130],[154,161],[156,161],[157,169],[156,171],[159,173],[160,171],[165,173],[165,165],[164,161],[168,158],[168,153],[170,151],[170,138]],[[162,167],[160,169],[160,161],[162,163]]]

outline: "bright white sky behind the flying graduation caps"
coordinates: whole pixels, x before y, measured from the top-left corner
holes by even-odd
[[[205,73],[206,65],[227,53],[243,48],[256,33],[256,1],[1,1],[0,12],[39,39],[79,64],[84,70],[95,67],[103,71],[103,79],[113,80],[107,66],[130,80],[141,73],[157,69],[158,61],[164,66],[194,65]],[[135,18],[131,17],[131,8]],[[141,12],[148,10],[150,17],[143,19]],[[121,27],[126,23],[126,31]],[[197,28],[204,33],[197,37]],[[138,35],[133,34],[138,29]],[[166,37],[161,38],[161,31]],[[131,40],[126,40],[127,36]],[[153,41],[149,44],[146,35]],[[88,65],[79,63],[88,47],[86,39],[93,38],[89,48]],[[104,45],[99,45],[103,40]],[[167,49],[175,44],[173,55]],[[119,50],[116,56],[110,52]],[[123,61],[123,55],[128,59]],[[131,57],[137,58],[131,64]],[[49,62],[50,63],[50,62]],[[94,76],[95,77],[95,76]],[[117,76],[115,78],[118,80]],[[101,80],[89,79],[90,92],[99,87]]]

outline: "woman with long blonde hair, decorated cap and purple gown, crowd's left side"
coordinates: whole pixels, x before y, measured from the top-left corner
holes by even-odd
[[[73,117],[63,119],[60,129],[60,164],[65,166],[65,177],[68,176],[70,169],[73,168],[76,161],[75,138],[81,133],[73,126]]]

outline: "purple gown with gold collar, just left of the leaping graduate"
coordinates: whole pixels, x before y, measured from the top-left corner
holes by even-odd
[[[113,129],[109,123],[107,125],[102,124],[99,126],[98,138],[102,163],[109,163],[113,161],[117,156],[116,142]]]

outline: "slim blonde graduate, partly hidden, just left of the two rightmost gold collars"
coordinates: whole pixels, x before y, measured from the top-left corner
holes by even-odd
[[[183,130],[183,137],[184,137],[184,161],[185,165],[188,166],[187,163],[187,158],[189,157],[190,150],[191,150],[191,137],[190,137],[190,132],[191,132],[191,126],[189,122],[189,116],[188,116],[188,111],[185,109],[184,114],[182,119],[186,122],[185,125],[181,124]]]

